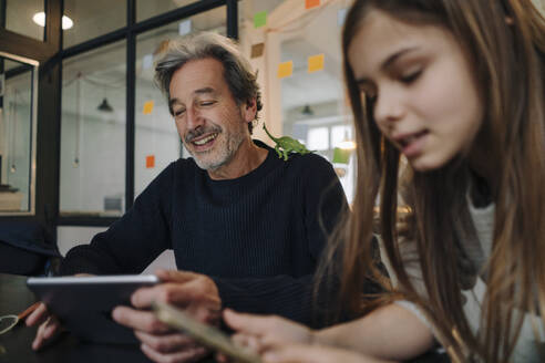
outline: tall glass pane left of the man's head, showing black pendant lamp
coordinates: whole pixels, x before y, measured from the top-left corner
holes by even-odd
[[[125,200],[126,44],[62,63],[61,215],[121,215]]]

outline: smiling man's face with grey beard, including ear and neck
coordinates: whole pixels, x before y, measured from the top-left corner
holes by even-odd
[[[178,134],[198,167],[216,180],[246,175],[267,157],[247,127],[256,117],[257,97],[236,100],[223,73],[216,59],[192,60],[173,73],[168,85]]]

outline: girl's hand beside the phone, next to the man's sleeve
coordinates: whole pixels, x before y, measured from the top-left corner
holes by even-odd
[[[280,317],[259,317],[226,309],[225,322],[236,331],[233,341],[257,353],[285,344],[311,344],[312,331]]]

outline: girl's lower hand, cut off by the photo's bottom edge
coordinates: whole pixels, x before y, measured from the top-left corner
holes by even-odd
[[[390,363],[359,353],[323,345],[290,344],[277,346],[263,355],[265,363]]]

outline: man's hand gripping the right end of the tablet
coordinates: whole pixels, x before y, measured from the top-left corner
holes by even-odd
[[[133,329],[142,342],[142,351],[151,360],[162,362],[196,362],[208,354],[189,336],[172,331],[158,321],[150,309],[153,301],[161,301],[184,309],[198,321],[217,325],[220,318],[222,300],[216,283],[207,276],[158,270],[162,283],[153,288],[136,290],[131,297],[134,308],[116,307],[113,319]]]

